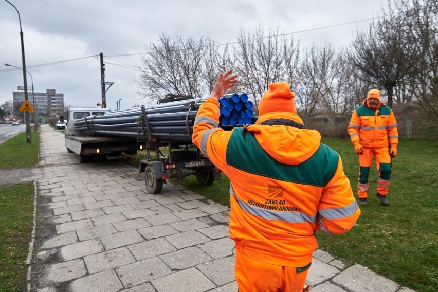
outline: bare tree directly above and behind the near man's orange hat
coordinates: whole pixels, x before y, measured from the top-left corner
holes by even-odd
[[[235,69],[240,76],[240,86],[252,95],[254,109],[258,111],[258,103],[266,92],[269,83],[294,78],[290,66],[297,58],[298,47],[293,39],[288,41],[279,29],[269,29],[265,36],[262,25],[254,33],[241,30],[238,48],[235,49]],[[288,67],[289,66],[289,67]],[[288,70],[289,69],[289,70]]]

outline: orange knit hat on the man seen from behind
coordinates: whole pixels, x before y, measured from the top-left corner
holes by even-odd
[[[290,91],[289,83],[270,83],[268,88],[259,102],[260,116],[270,112],[297,113],[294,101],[295,93]]]

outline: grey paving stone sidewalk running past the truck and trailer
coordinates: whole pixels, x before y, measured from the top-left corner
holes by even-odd
[[[39,161],[30,291],[237,291],[228,207],[173,184],[148,194],[122,162],[80,164],[47,125]],[[321,250],[307,282],[312,292],[413,291]]]

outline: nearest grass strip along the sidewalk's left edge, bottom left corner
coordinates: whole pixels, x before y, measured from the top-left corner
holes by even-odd
[[[1,147],[0,147],[1,148]],[[0,291],[26,288],[33,224],[33,182],[0,187]]]

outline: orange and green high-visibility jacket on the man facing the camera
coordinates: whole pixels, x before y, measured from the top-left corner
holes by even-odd
[[[388,147],[398,144],[397,121],[392,109],[380,102],[377,109],[367,106],[365,99],[351,116],[348,133],[354,144],[359,142],[365,148]],[[388,140],[389,138],[389,140]]]

